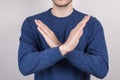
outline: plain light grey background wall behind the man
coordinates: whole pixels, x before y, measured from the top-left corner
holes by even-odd
[[[120,1],[73,0],[73,6],[97,17],[104,26],[110,70],[104,80],[120,80]],[[33,80],[18,70],[17,50],[20,29],[27,16],[52,7],[51,0],[0,0],[0,80]],[[92,80],[99,80],[92,76]]]

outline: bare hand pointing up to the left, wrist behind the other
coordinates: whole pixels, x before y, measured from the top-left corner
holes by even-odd
[[[54,32],[50,30],[42,21],[36,19],[35,23],[38,26],[37,29],[43,35],[51,48],[61,45]]]

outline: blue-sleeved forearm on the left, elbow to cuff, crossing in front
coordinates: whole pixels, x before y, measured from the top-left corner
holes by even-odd
[[[23,54],[23,55],[21,55]],[[58,47],[46,49],[40,52],[19,52],[19,68],[23,75],[32,74],[43,69],[46,69],[63,56],[59,52]]]

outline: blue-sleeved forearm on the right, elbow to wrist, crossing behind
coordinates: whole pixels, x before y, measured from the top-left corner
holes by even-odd
[[[66,58],[79,70],[98,78],[104,78],[108,72],[108,61],[102,55],[73,50],[66,55]]]

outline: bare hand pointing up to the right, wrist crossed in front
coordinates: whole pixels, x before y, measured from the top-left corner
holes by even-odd
[[[68,52],[75,49],[75,47],[79,43],[80,37],[83,34],[83,28],[85,27],[85,25],[88,22],[89,18],[90,18],[90,16],[85,16],[82,19],[82,21],[74,29],[72,29],[67,41],[59,47],[62,55],[65,55]]]

